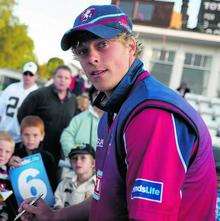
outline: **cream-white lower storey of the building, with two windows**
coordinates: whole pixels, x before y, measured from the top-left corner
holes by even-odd
[[[176,89],[220,97],[220,38],[196,32],[135,25],[144,45],[142,60],[160,81]]]

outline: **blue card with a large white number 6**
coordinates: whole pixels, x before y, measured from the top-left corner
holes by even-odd
[[[43,194],[47,204],[53,206],[53,191],[39,153],[23,158],[20,167],[9,170],[9,177],[18,204],[24,199]]]

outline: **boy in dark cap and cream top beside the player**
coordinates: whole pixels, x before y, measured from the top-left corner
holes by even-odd
[[[95,187],[95,152],[91,145],[77,146],[69,153],[71,166],[75,171],[72,178],[64,178],[55,191],[55,209],[83,202],[89,198]]]

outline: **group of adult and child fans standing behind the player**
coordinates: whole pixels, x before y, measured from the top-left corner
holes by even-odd
[[[0,188],[12,189],[7,173],[10,167],[20,167],[24,157],[40,153],[54,192],[54,209],[82,202],[95,185],[97,127],[103,113],[92,105],[97,90],[80,90],[80,85],[75,93],[77,85],[71,86],[72,72],[66,65],[54,70],[49,86],[38,88],[33,62],[24,65],[22,76],[21,82],[11,84],[0,96],[0,165],[4,174]],[[67,171],[61,161],[68,165]],[[16,200],[10,196],[6,202],[0,219],[13,220]]]

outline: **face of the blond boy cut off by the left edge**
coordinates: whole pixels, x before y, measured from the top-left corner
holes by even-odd
[[[6,140],[0,140],[0,165],[8,163],[14,152],[12,144]]]

